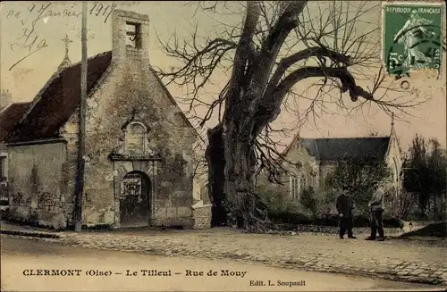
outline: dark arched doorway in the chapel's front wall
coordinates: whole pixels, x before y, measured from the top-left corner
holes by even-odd
[[[150,194],[150,179],[146,173],[131,171],[124,176],[120,194],[121,227],[149,225]]]

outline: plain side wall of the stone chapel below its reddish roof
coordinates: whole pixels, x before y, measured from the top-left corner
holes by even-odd
[[[63,142],[9,148],[10,212],[14,219],[61,229],[66,226],[61,193]]]

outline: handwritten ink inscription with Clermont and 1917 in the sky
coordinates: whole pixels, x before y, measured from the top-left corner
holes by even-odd
[[[89,15],[101,17],[106,23],[116,7],[117,4],[94,3],[89,7]],[[45,21],[48,18],[80,18],[81,14],[80,7],[74,4],[70,8],[61,7],[61,5],[55,6],[53,3],[30,4],[24,11],[10,10],[6,14],[6,20],[20,21],[22,26],[18,38],[13,39],[13,42],[10,43],[10,48],[13,53],[21,54],[22,57],[13,63],[9,70],[13,70],[16,65],[26,60],[30,55],[48,46],[46,38],[42,38],[38,34],[38,21]]]

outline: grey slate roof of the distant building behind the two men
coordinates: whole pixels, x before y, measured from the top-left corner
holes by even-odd
[[[299,138],[309,154],[320,161],[382,158],[386,154],[390,137],[367,138]]]

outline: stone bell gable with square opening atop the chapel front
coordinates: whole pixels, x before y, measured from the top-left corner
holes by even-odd
[[[127,63],[134,68],[139,64],[148,64],[148,15],[114,10],[112,39],[112,58],[114,62]]]

